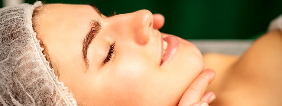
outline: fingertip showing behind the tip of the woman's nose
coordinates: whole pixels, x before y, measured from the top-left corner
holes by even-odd
[[[153,14],[154,24],[153,28],[160,29],[164,26],[164,16],[161,14]]]

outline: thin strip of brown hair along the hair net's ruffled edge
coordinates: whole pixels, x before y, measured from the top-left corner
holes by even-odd
[[[34,8],[34,10],[33,10],[32,18],[31,18],[32,28],[33,28],[34,32],[37,34],[37,35],[36,35],[36,38],[39,40],[40,46],[43,48],[42,53],[45,55],[45,59],[50,62],[50,64],[49,64],[50,68],[53,68],[55,75],[59,77],[59,76],[60,76],[60,73],[59,73],[59,71],[58,71],[57,66],[54,65],[52,61],[50,61],[50,55],[48,54],[48,49],[47,49],[47,47],[44,45],[42,39],[38,37],[38,35],[41,35],[41,34],[38,32],[38,29],[39,29],[39,23],[38,23],[38,22],[39,22],[39,20],[40,20],[40,16],[41,16],[42,13],[44,12],[44,4],[45,4],[45,3],[43,3],[43,5],[41,5],[41,6],[38,6],[38,7]],[[53,67],[53,66],[56,66],[56,67]]]

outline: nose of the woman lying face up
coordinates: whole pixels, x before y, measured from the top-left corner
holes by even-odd
[[[120,20],[122,19],[122,20]],[[145,45],[149,41],[150,33],[153,31],[153,14],[148,10],[122,14],[118,19],[122,22],[120,27],[126,31],[126,37],[130,36],[138,45]]]

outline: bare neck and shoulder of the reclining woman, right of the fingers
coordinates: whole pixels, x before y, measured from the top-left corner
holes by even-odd
[[[203,59],[205,67],[217,73],[207,89],[217,95],[211,106],[282,105],[280,30],[255,40],[242,56],[208,53]]]

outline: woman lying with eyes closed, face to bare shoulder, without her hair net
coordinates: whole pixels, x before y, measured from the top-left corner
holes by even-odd
[[[157,31],[161,20],[147,10],[106,17],[95,6],[48,4],[34,9],[32,26],[79,105],[190,105],[203,94],[191,90],[205,90],[214,76],[203,66],[218,73],[211,105],[282,104],[279,19],[243,56],[203,58],[190,42]]]

